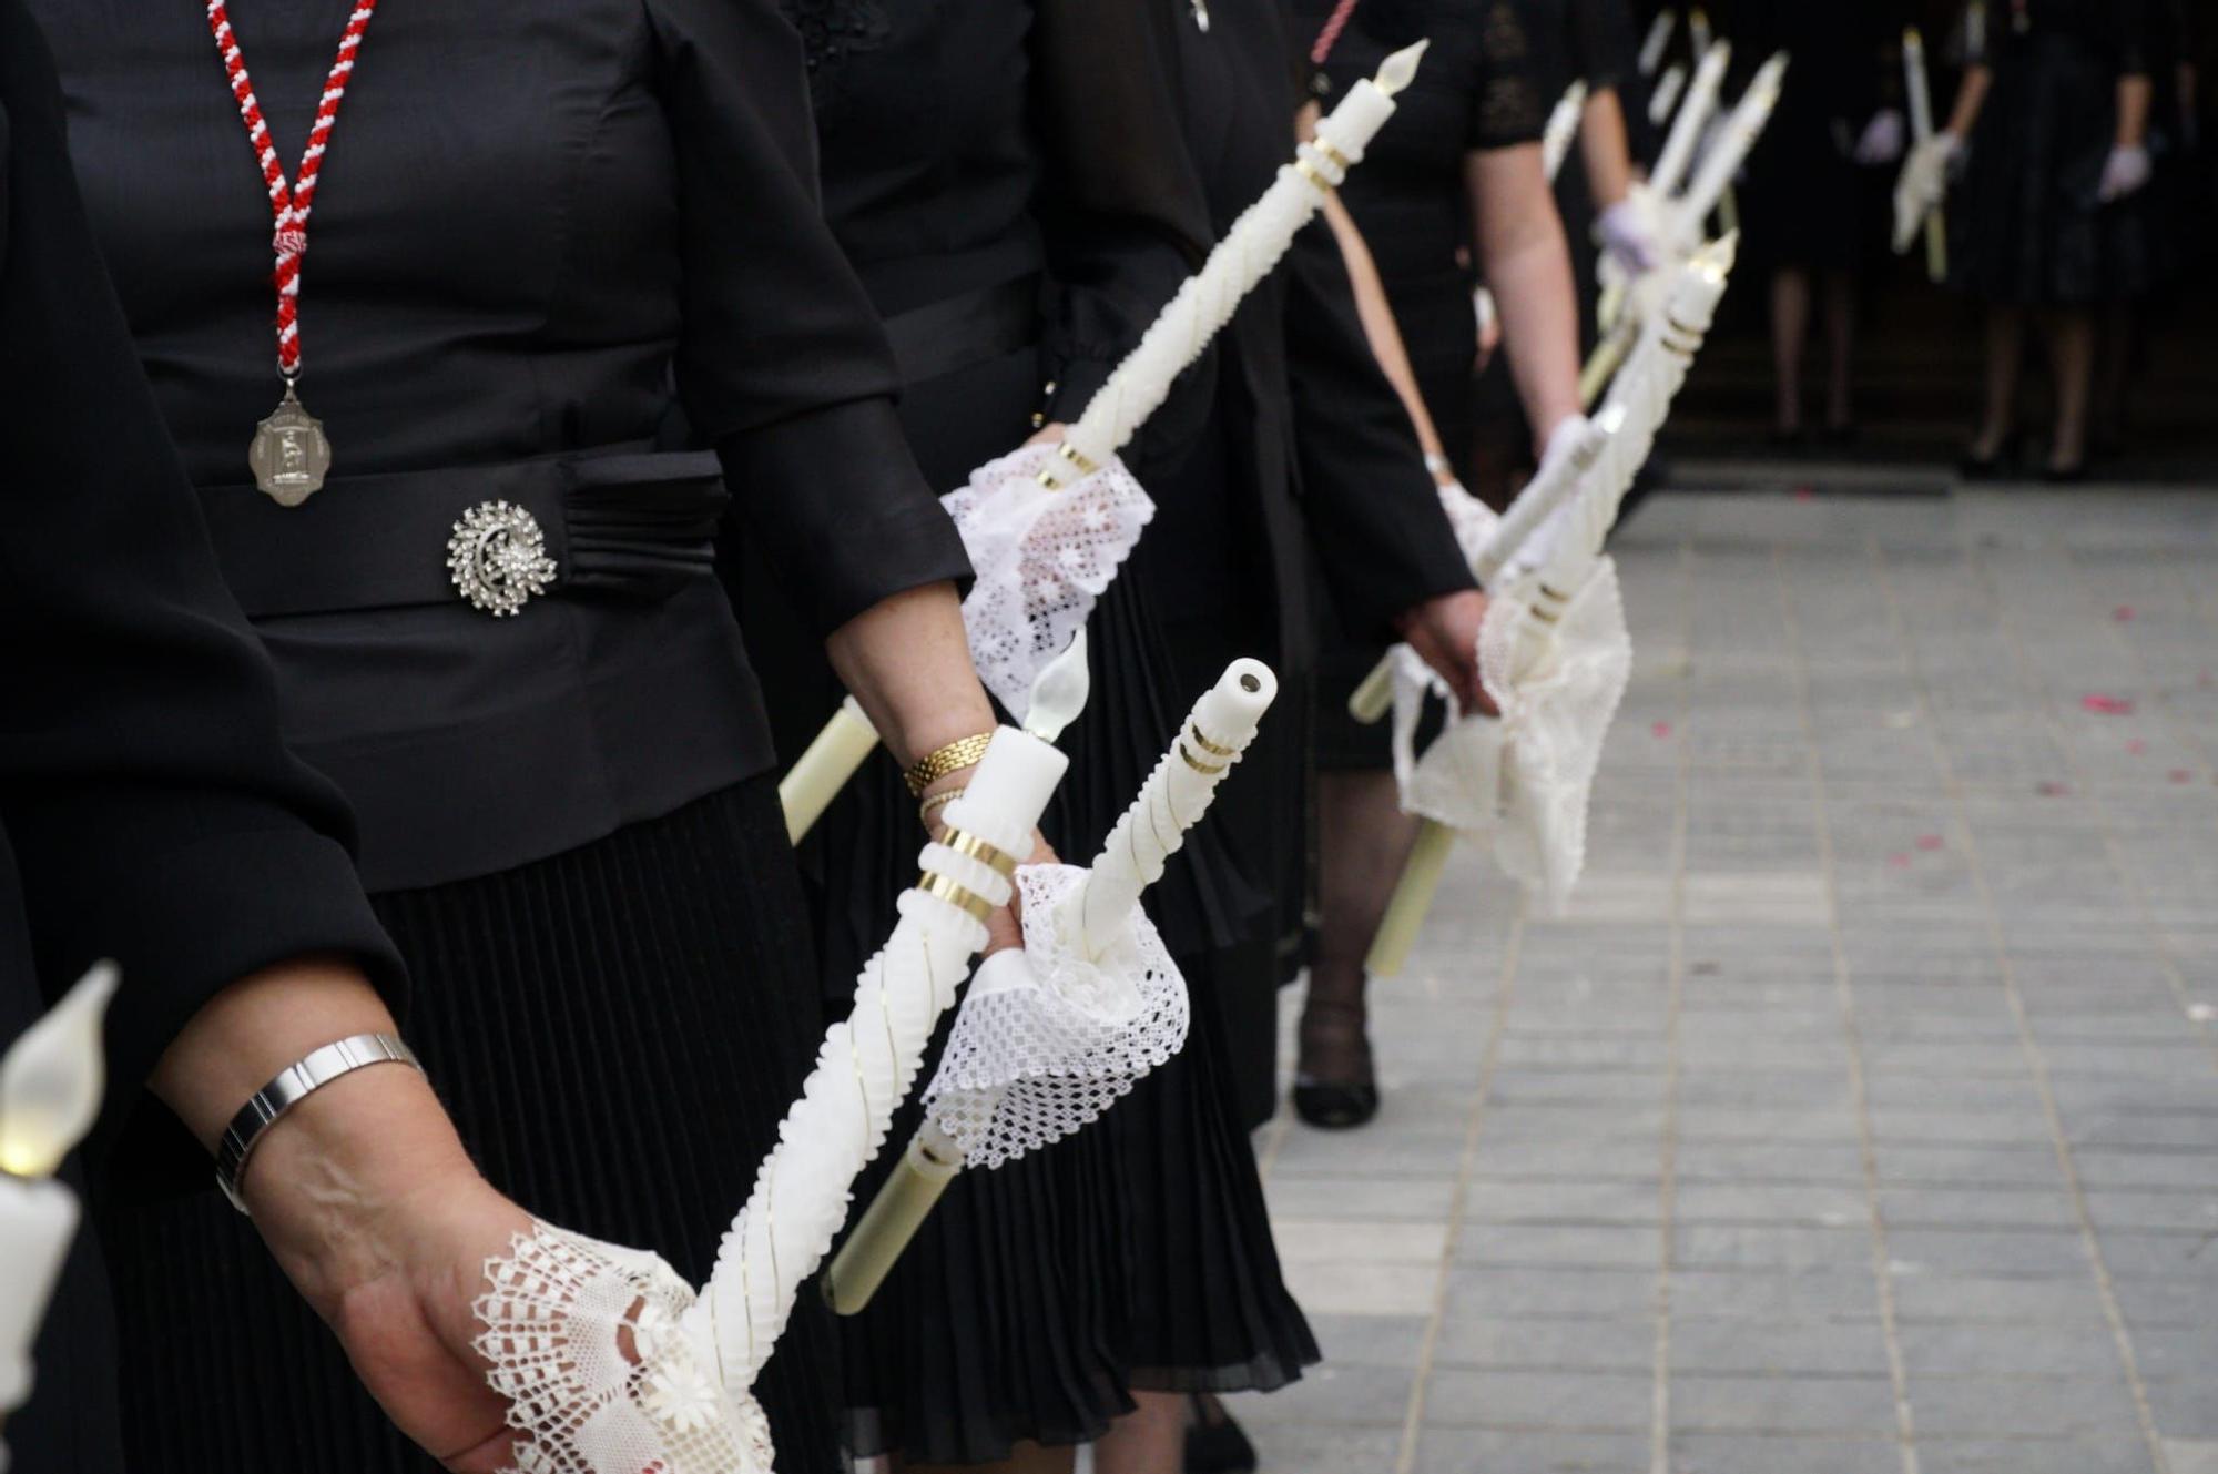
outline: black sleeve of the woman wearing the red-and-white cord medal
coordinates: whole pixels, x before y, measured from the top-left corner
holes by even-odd
[[[898,377],[816,193],[801,38],[770,0],[648,0],[676,140],[679,393],[783,590],[830,633],[969,575],[894,415]]]

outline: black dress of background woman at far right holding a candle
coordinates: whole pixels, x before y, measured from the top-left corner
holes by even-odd
[[[1990,4],[1994,84],[1950,200],[1950,260],[1974,297],[2094,306],[2147,295],[2147,193],[2096,191],[2118,120],[2118,80],[2149,73],[2147,0]]]

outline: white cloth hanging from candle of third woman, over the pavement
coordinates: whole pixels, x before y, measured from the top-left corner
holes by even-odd
[[[1495,861],[1559,912],[1586,868],[1588,797],[1632,675],[1617,564],[1595,566],[1553,639],[1533,646],[1533,622],[1528,599],[1488,604],[1479,675],[1502,717],[1462,717],[1451,704],[1448,730],[1422,757],[1413,753],[1417,717],[1437,686],[1415,657],[1395,666],[1395,777],[1404,810],[1490,844]],[[1519,659],[1528,662],[1522,670]]]

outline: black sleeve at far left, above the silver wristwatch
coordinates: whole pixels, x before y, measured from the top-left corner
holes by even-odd
[[[337,790],[279,741],[275,675],[215,568],[16,0],[0,115],[0,837],[49,999],[100,957],[122,968],[104,1150],[224,986],[339,952],[399,1006],[401,966]],[[171,1165],[204,1168],[171,1141]]]

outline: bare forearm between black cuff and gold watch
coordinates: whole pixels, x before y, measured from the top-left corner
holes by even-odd
[[[872,604],[832,630],[825,653],[901,766],[994,730],[954,584],[925,584]]]

